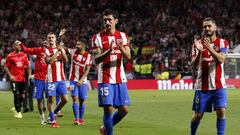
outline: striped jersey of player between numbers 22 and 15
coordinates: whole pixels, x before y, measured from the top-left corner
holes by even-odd
[[[66,53],[71,56],[69,80],[78,82],[82,78],[86,66],[92,66],[92,56],[86,51],[80,54],[76,49],[67,49]],[[83,83],[87,83],[87,77],[84,78]]]

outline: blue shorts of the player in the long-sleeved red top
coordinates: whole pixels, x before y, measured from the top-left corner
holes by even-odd
[[[46,91],[46,82],[44,80],[34,80],[33,82],[33,98],[43,99],[43,94],[45,93],[45,97],[47,96]]]

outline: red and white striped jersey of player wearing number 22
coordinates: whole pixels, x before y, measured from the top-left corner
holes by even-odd
[[[58,51],[57,48],[47,48],[45,49],[46,57],[52,57]],[[47,81],[48,82],[58,82],[64,81],[64,64],[63,64],[63,56],[59,52],[57,58],[52,64],[48,64],[48,72],[47,72]]]

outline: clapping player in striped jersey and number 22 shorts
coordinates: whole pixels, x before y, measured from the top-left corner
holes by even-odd
[[[56,35],[48,33],[47,41],[50,45],[45,49],[46,62],[48,64],[47,89],[48,89],[48,110],[52,128],[59,128],[55,114],[68,102],[67,88],[63,64],[68,61],[65,50],[61,45],[56,44]],[[54,98],[56,95],[61,97],[60,103],[54,110]]]

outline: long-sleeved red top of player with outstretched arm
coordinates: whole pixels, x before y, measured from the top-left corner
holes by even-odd
[[[25,53],[37,55],[35,59],[34,78],[37,80],[46,80],[47,63],[45,61],[45,48],[27,48],[24,44],[21,44],[21,48]]]

